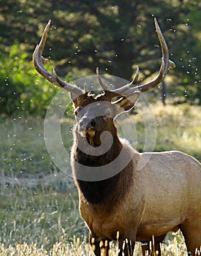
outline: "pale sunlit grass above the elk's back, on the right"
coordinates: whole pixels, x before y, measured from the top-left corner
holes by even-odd
[[[184,105],[152,105],[157,138],[154,151],[178,150],[201,161],[201,107]],[[137,129],[137,148],[143,150],[145,127],[142,116],[133,116]],[[151,137],[151,135],[149,135]],[[154,138],[153,138],[154,140]]]

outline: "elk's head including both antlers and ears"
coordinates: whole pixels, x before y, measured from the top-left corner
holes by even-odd
[[[64,80],[58,78],[55,69],[53,69],[53,74],[45,69],[44,64],[47,62],[47,59],[42,57],[42,50],[45,47],[50,21],[45,27],[42,39],[34,50],[34,67],[37,69],[37,72],[45,79],[49,80],[50,83],[70,92],[77,119],[77,135],[80,136],[80,138],[87,138],[91,146],[100,146],[100,136],[103,132],[110,131],[112,135],[115,134],[115,126],[113,124],[115,116],[122,111],[131,110],[140,97],[140,92],[148,91],[157,86],[164,80],[168,67],[175,67],[175,64],[169,60],[167,44],[156,18],[154,21],[159,42],[162,47],[162,64],[156,78],[148,83],[136,86],[139,76],[139,68],[137,67],[136,75],[131,83],[121,86],[121,88],[110,90],[109,87],[102,82],[99,69],[97,68],[96,75],[99,80],[99,85],[103,90],[101,94],[97,94],[96,91],[88,92],[86,88],[80,89],[75,85],[64,82]]]

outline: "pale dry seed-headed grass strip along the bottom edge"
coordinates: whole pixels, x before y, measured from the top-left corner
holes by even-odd
[[[115,244],[110,245],[110,256],[118,254],[118,248]],[[30,256],[94,256],[86,239],[80,241],[80,238],[73,239],[72,243],[56,242],[49,250],[44,246],[38,247],[37,244],[15,244],[7,248],[4,244],[0,244],[0,255],[30,255]],[[137,243],[134,249],[134,256],[141,256],[140,244]],[[176,234],[172,241],[166,241],[162,244],[162,255],[164,256],[184,256],[186,254],[186,246],[183,244],[181,234]],[[147,255],[148,256],[148,255]]]

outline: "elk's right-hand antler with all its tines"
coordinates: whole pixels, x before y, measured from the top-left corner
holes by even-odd
[[[174,62],[170,61],[170,59],[169,59],[169,52],[168,52],[167,44],[165,42],[165,39],[163,37],[162,31],[159,27],[159,24],[158,24],[156,18],[154,18],[154,22],[155,22],[155,26],[156,26],[156,33],[159,37],[159,42],[162,47],[162,64],[161,64],[158,75],[156,76],[156,78],[154,78],[153,80],[151,80],[148,83],[144,83],[141,86],[133,87],[134,85],[136,85],[137,78],[139,75],[139,68],[137,67],[136,75],[135,75],[134,79],[132,80],[132,82],[126,84],[126,86],[122,86],[121,88],[111,90],[112,92],[126,96],[126,95],[134,93],[134,91],[148,91],[148,90],[152,89],[153,87],[157,86],[159,83],[161,83],[162,80],[164,80],[165,75],[167,74],[168,67],[175,68]],[[102,82],[100,75],[99,75],[98,68],[96,69],[96,74],[97,74],[97,77],[99,80],[99,84],[100,84],[100,86],[102,86],[102,89],[104,89],[105,91],[110,91],[109,87],[105,83]]]

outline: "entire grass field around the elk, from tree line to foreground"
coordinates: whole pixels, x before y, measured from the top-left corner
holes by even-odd
[[[201,161],[201,107],[155,105],[153,112],[154,151],[176,149]],[[142,117],[132,118],[137,149],[142,151]],[[64,119],[63,123],[62,138],[69,152],[73,121]],[[50,159],[43,124],[39,117],[0,119],[0,255],[92,255],[88,230],[77,209],[75,185]],[[181,233],[168,234],[162,250],[163,255],[185,255]],[[116,255],[115,244],[111,255]],[[139,244],[134,255],[140,255]]]

